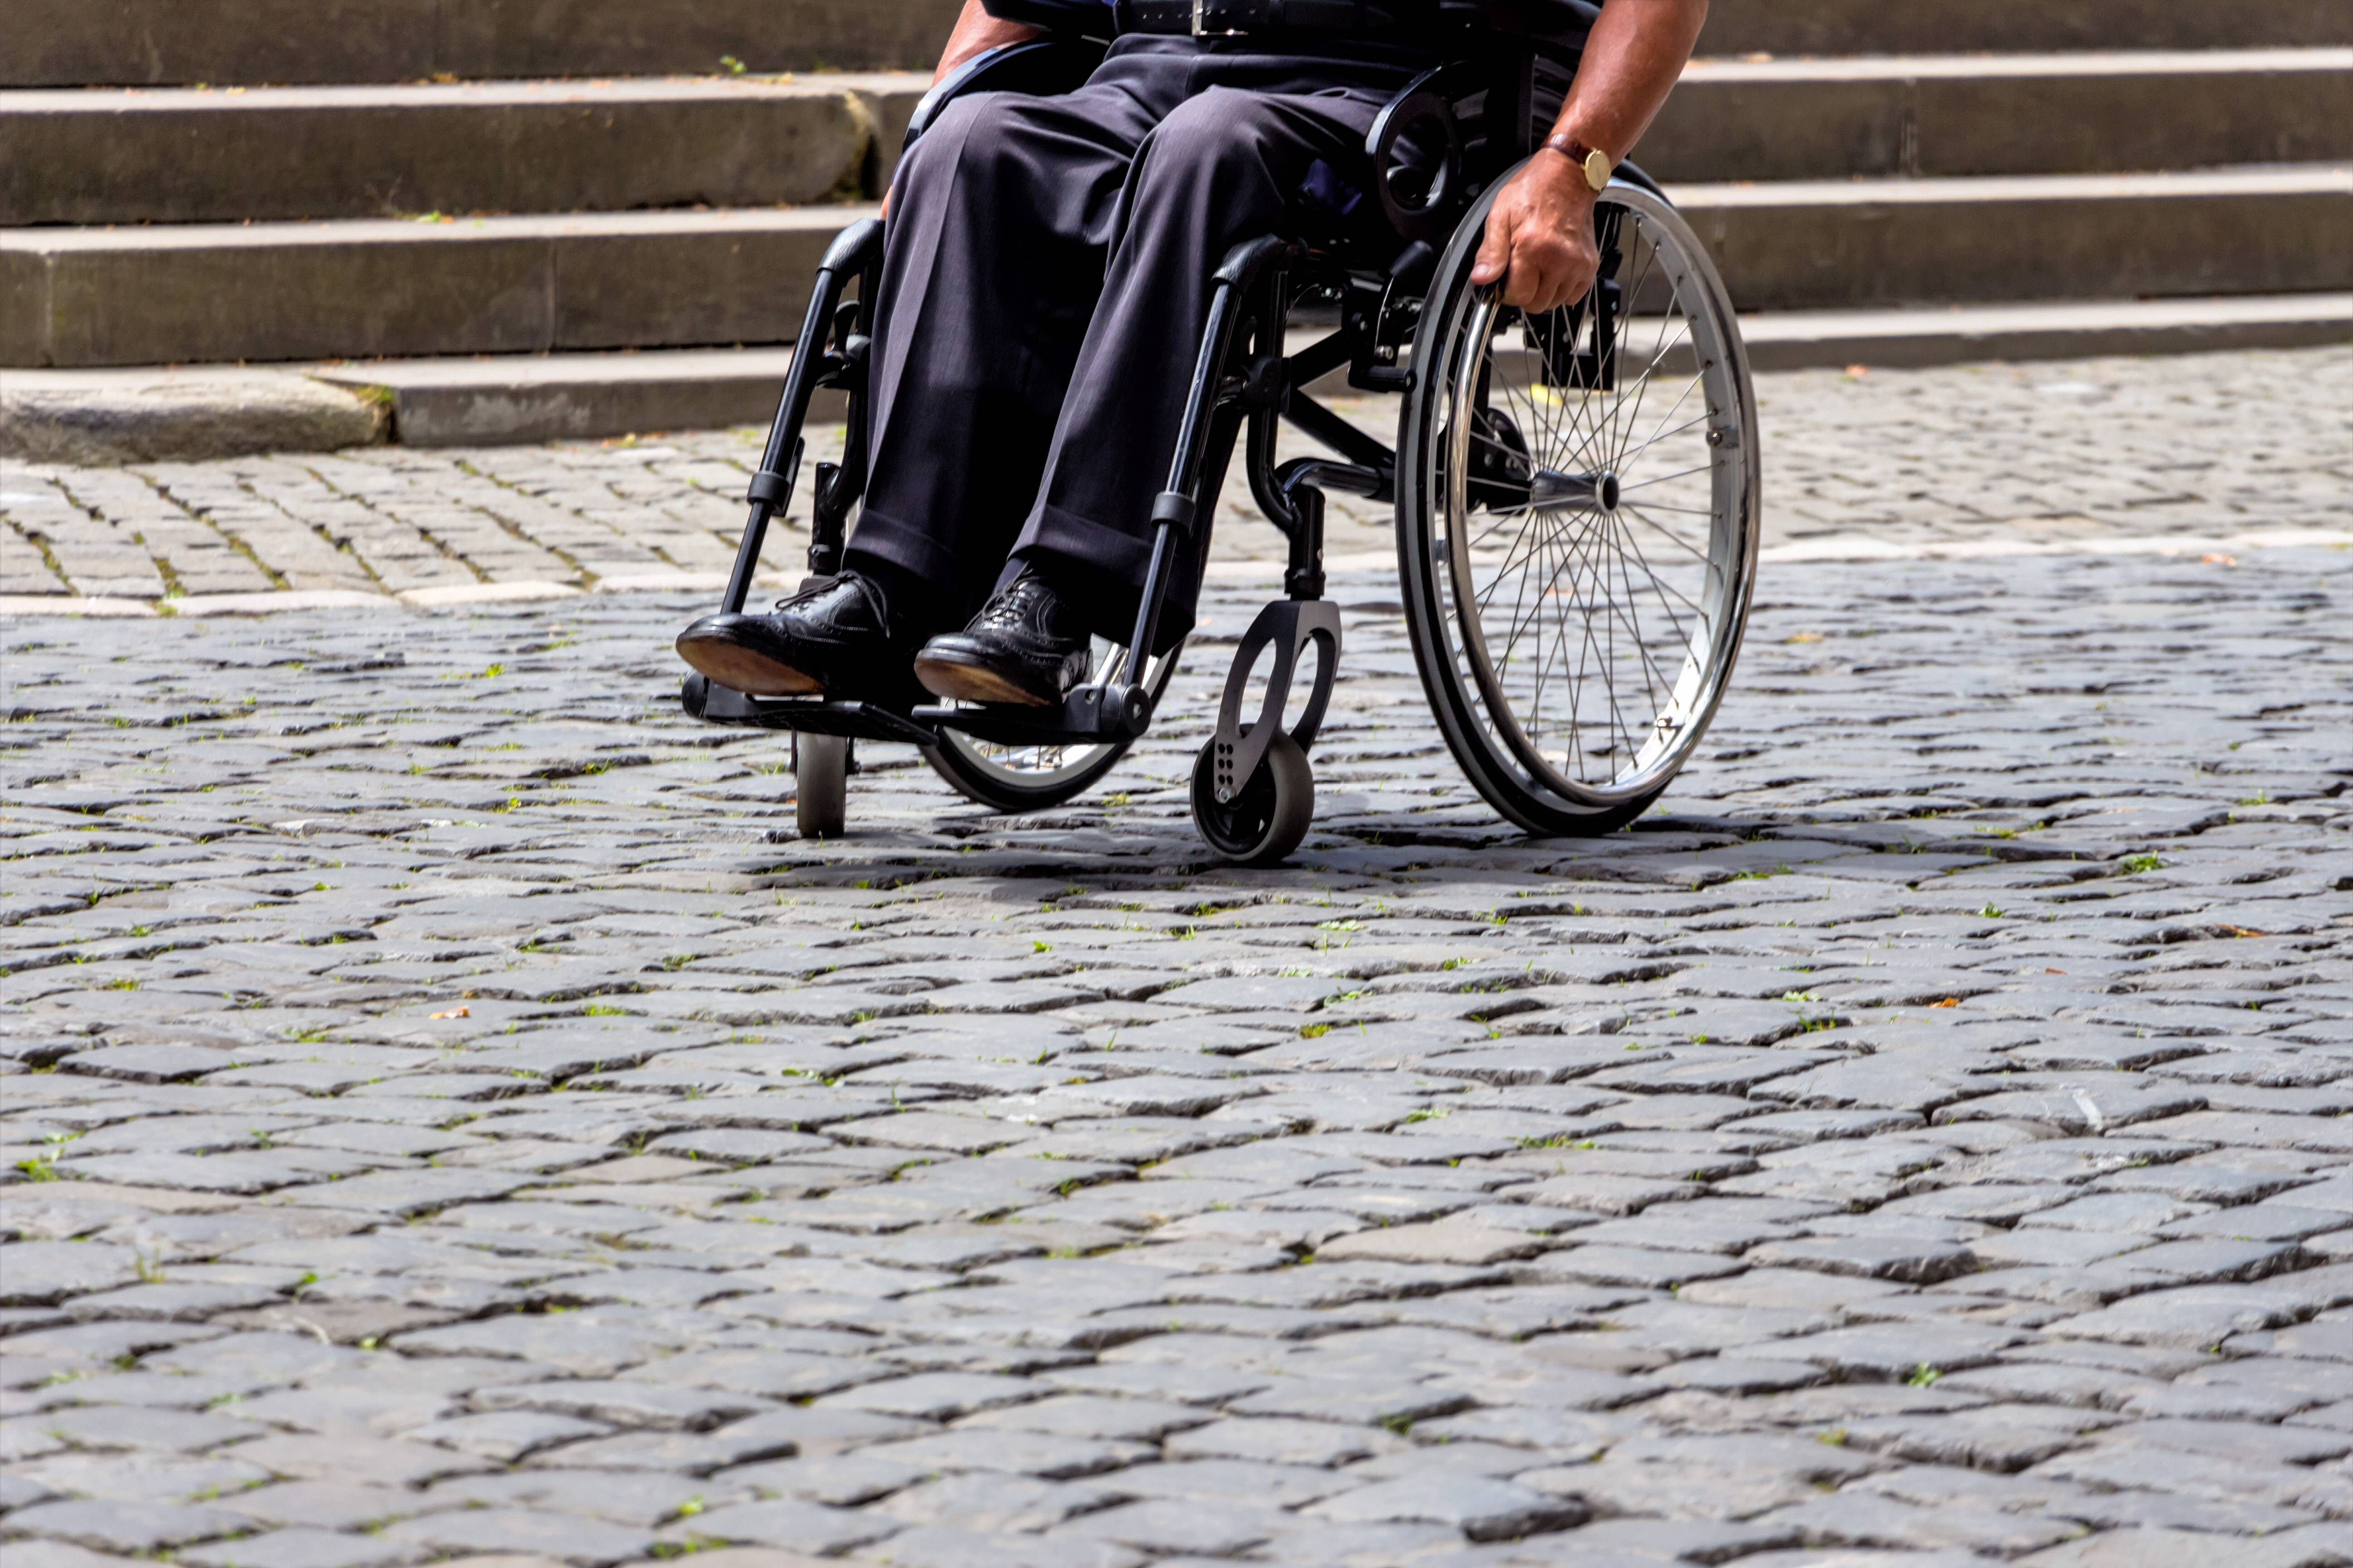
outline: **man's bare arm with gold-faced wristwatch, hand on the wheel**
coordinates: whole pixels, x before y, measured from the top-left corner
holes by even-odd
[[[965,14],[974,9],[979,0]],[[1626,158],[1692,59],[1706,16],[1708,0],[1605,0],[1553,134],[1600,148],[1612,162]],[[1525,310],[1581,299],[1600,268],[1593,200],[1584,169],[1539,150],[1497,190],[1471,282],[1501,277],[1504,303]]]

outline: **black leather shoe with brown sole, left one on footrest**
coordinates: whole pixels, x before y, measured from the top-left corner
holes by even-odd
[[[769,616],[704,616],[678,632],[680,658],[748,696],[920,698],[911,651],[882,588],[856,571],[779,599]]]

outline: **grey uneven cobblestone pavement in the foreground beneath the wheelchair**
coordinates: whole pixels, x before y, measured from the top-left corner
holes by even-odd
[[[1341,574],[1233,872],[1259,592],[824,844],[699,597],[19,621],[9,1568],[2353,1561],[2353,555],[1781,567],[1595,842]]]

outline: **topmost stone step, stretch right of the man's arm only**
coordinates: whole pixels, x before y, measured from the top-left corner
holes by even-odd
[[[1715,0],[1701,54],[2000,54],[2353,45],[2344,0]]]

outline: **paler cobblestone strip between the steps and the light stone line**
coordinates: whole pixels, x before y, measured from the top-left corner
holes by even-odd
[[[1395,421],[1395,400],[1341,407]],[[2346,543],[2348,407],[2344,348],[1762,376],[1767,559]],[[760,440],[19,465],[0,477],[0,597],[195,614],[271,592],[327,607],[711,588]],[[812,433],[812,458],[838,449],[838,425]],[[1240,475],[1221,512],[1221,557],[1280,557]],[[1348,496],[1329,527],[1337,559],[1393,550],[1386,512]],[[779,534],[772,581],[798,581],[798,557]]]

